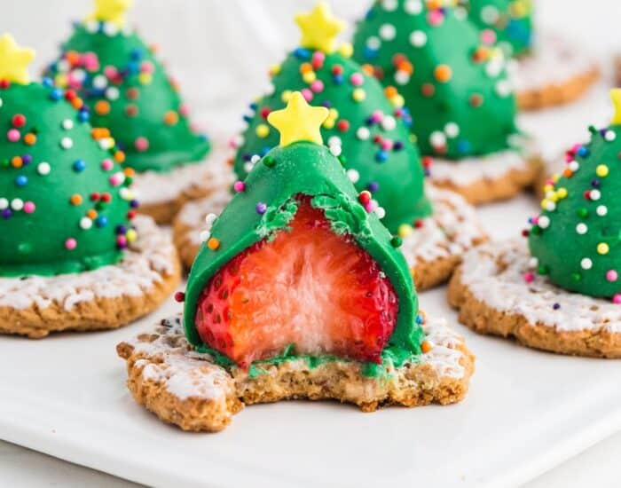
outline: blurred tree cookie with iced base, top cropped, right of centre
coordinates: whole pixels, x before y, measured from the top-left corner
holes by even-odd
[[[405,98],[431,181],[469,202],[530,186],[538,153],[518,137],[506,60],[454,2],[376,1],[354,37],[354,59]]]

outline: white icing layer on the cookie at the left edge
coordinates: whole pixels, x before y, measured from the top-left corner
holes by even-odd
[[[70,311],[78,303],[98,298],[144,295],[162,276],[174,272],[177,257],[168,232],[150,217],[137,216],[133,223],[138,240],[118,264],[52,277],[0,278],[0,306],[24,310],[34,305],[43,310],[59,303]]]

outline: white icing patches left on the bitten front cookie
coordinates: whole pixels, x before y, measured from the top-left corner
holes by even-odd
[[[421,363],[430,365],[440,379],[462,378],[466,371],[460,364],[463,353],[457,348],[463,339],[446,325],[444,319],[428,319],[422,327],[432,349],[421,355]],[[138,359],[136,363],[143,367],[141,374],[145,381],[164,386],[170,394],[182,400],[222,400],[232,393],[231,375],[216,366],[209,354],[194,351],[186,341],[181,316],[162,320],[161,326],[153,332],[158,336],[152,341],[146,340],[149,338],[147,333],[128,342],[135,354],[149,358]],[[153,363],[153,358],[157,358],[158,364]],[[310,367],[304,359],[292,359],[288,366],[301,371]]]

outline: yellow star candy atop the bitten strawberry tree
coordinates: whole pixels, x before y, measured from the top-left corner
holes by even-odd
[[[271,112],[267,121],[280,132],[280,147],[298,141],[323,144],[321,124],[326,121],[328,110],[325,106],[310,106],[302,93],[295,91],[287,103],[287,108]]]

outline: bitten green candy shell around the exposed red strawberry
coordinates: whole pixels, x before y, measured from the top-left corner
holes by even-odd
[[[267,161],[267,162],[266,162]],[[246,189],[237,193],[224,212],[216,219],[211,236],[219,241],[216,250],[203,247],[193,264],[185,293],[185,335],[188,341],[214,354],[222,366],[232,361],[209,350],[200,341],[194,326],[197,302],[208,280],[234,256],[262,240],[266,232],[287,228],[295,215],[295,195],[312,197],[311,204],[323,209],[335,232],[347,232],[379,264],[389,277],[399,299],[397,325],[382,353],[382,367],[366,368],[366,374],[379,375],[389,364],[399,366],[406,360],[416,360],[421,354],[424,334],[417,325],[418,299],[403,255],[393,248],[392,236],[373,213],[366,213],[358,204],[358,193],[342,170],[341,164],[324,146],[298,142],[272,149],[246,179]],[[267,205],[263,215],[256,211],[257,203]],[[279,212],[282,211],[279,216]],[[275,364],[291,358],[291,350],[279,357],[257,362]],[[307,358],[312,365],[334,358]],[[341,358],[338,358],[342,360]]]

